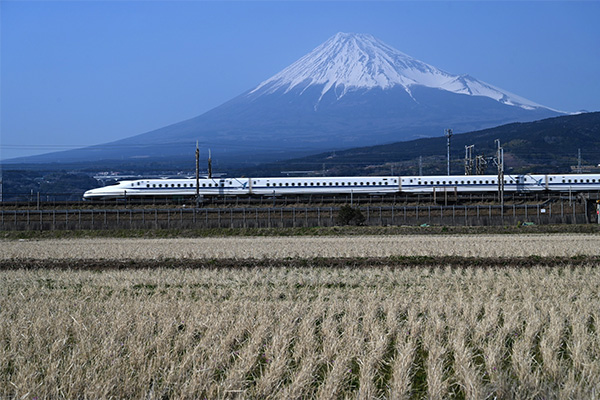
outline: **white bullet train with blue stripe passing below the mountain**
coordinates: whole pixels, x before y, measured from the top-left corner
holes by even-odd
[[[282,196],[498,191],[497,175],[201,178],[200,196]],[[600,190],[600,174],[505,175],[505,193]],[[91,189],[86,200],[196,195],[196,179],[140,179]]]

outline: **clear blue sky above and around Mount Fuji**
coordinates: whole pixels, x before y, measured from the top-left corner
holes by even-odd
[[[337,32],[545,106],[600,110],[598,1],[0,2],[0,158],[200,115]]]

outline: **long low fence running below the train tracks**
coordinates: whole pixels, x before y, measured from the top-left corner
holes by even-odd
[[[202,229],[334,226],[339,206],[1,209],[0,230]],[[589,202],[358,206],[364,225],[514,225],[596,222]]]

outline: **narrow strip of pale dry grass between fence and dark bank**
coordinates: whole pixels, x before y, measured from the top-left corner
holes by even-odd
[[[0,241],[2,259],[283,259],[314,257],[572,257],[600,255],[600,236],[430,235],[50,239]]]

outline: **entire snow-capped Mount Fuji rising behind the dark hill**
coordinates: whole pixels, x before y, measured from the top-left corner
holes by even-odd
[[[222,162],[263,162],[561,114],[371,35],[338,33],[198,117],[106,145],[12,161],[192,158],[200,141]]]

